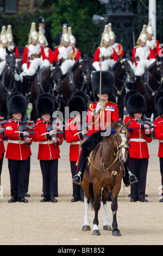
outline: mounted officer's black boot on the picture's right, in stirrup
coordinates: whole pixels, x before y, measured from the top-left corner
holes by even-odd
[[[124,163],[125,176],[123,176],[124,186],[129,187],[131,184],[137,182],[137,178],[134,174],[130,172],[130,159],[128,154],[128,159]]]

